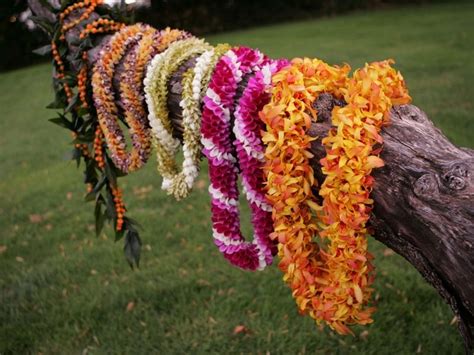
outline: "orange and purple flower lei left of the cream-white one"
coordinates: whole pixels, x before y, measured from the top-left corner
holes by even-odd
[[[104,133],[107,146],[114,164],[123,172],[130,172],[140,168],[147,160],[150,153],[149,128],[146,122],[146,114],[142,107],[140,95],[141,77],[144,67],[152,53],[159,52],[168,44],[182,36],[180,31],[161,31],[159,34],[150,26],[136,24],[124,27],[117,32],[105,45],[99,54],[92,74],[92,89],[94,105],[100,127]],[[155,41],[159,38],[159,41]],[[149,49],[137,54],[137,61],[132,51],[126,56],[125,73],[127,78],[122,77],[121,98],[125,109],[125,119],[131,127],[133,148],[131,153],[126,152],[124,134],[116,120],[118,107],[115,104],[113,89],[113,76],[115,67],[126,55],[132,46],[144,41]]]

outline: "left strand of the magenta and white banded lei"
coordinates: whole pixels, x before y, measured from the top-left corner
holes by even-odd
[[[238,165],[230,138],[231,115],[243,75],[259,70],[267,62],[259,51],[250,48],[229,50],[214,69],[203,100],[201,123],[203,153],[209,160],[214,242],[233,265],[249,270],[262,270],[271,263],[271,246],[260,233],[253,242],[246,242],[240,231]],[[243,104],[248,100],[244,99]],[[254,221],[261,221],[261,215],[254,217]]]

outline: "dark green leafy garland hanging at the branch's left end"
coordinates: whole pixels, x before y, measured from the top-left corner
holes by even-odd
[[[60,10],[53,11],[51,8],[51,11],[58,18],[59,13],[63,12],[74,2],[74,0],[63,0]],[[108,10],[111,11],[103,9],[103,11],[106,11],[103,14],[104,17],[112,18],[117,22],[130,23],[130,13],[125,11],[125,9],[116,7]],[[89,35],[86,39],[77,38],[74,43],[75,45],[71,46],[60,39],[63,33],[59,23],[51,22],[51,20],[41,17],[35,17],[34,22],[43,28],[48,33],[48,36],[53,39],[49,46],[38,48],[36,53],[40,55],[51,53],[54,56],[55,47],[57,48],[57,53],[59,53],[59,58],[54,58],[53,60],[52,81],[55,100],[47,107],[59,109],[62,112],[58,112],[57,117],[51,118],[49,121],[62,128],[66,128],[72,133],[73,140],[71,143],[74,145],[74,149],[72,150],[71,160],[76,161],[78,167],[82,161],[84,162],[84,183],[92,190],[86,195],[85,200],[95,201],[96,233],[100,234],[106,221],[114,226],[118,225],[118,214],[115,208],[113,189],[117,189],[118,178],[126,174],[115,168],[108,157],[105,146],[102,149],[105,167],[101,168],[95,161],[92,148],[94,147],[95,131],[98,127],[97,112],[93,105],[85,108],[82,101],[79,100],[79,90],[74,90],[78,86],[77,78],[80,70],[88,64],[87,61],[84,61],[83,54],[97,45],[95,43],[97,38],[93,35]],[[64,66],[64,68],[61,69],[61,66]],[[69,97],[67,95],[68,90],[66,89],[70,91]],[[89,95],[86,95],[86,101],[91,103],[90,87],[87,89],[89,89]],[[140,261],[141,241],[135,227],[135,222],[126,217],[123,220],[123,227],[120,230],[116,229],[115,240],[120,240],[124,235],[125,256],[133,268],[133,265],[138,266]]]

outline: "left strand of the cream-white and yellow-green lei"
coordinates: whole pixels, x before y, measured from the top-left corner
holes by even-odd
[[[153,58],[144,80],[145,98],[149,111],[148,120],[157,151],[158,172],[163,176],[162,188],[167,190],[169,194],[173,194],[178,200],[187,195],[187,184],[184,175],[179,174],[174,159],[180,143],[178,139],[173,137],[172,126],[168,117],[168,80],[183,62],[210,48],[212,47],[209,44],[194,37],[175,42],[165,52]],[[190,80],[190,78],[187,80]],[[190,93],[188,92],[188,94]],[[185,99],[192,99],[192,96],[189,95]],[[188,144],[192,145],[193,143],[190,140]],[[197,142],[195,146],[199,146]]]

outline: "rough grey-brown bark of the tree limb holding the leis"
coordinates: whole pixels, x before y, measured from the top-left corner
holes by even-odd
[[[34,13],[41,12],[42,16],[51,18],[52,14],[48,14],[40,0],[29,0],[29,3]],[[97,48],[89,52],[91,64],[97,54]],[[194,63],[193,58],[183,64],[168,85],[168,107],[177,137],[183,131],[179,107],[181,75]],[[321,95],[314,103],[318,120],[313,122],[309,134],[318,137],[312,144],[315,155],[312,166],[320,182],[323,175],[319,160],[325,154],[321,138],[331,128],[332,108],[341,104],[329,94]],[[382,137],[381,157],[385,166],[374,171],[375,204],[370,219],[373,236],[408,260],[451,306],[459,320],[466,353],[471,353],[474,347],[474,150],[453,145],[413,105],[392,109],[391,124],[384,128]]]

